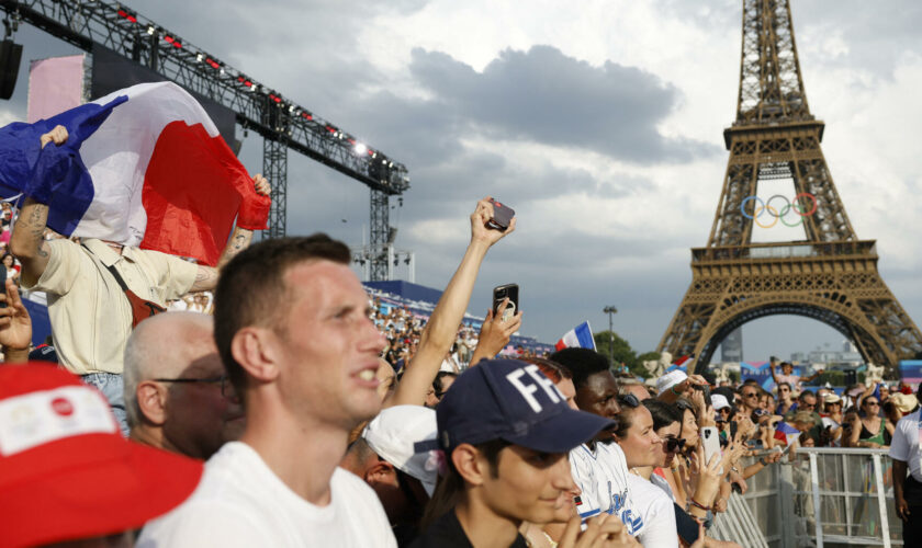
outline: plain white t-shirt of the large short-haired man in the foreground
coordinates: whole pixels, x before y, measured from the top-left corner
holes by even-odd
[[[289,489],[250,446],[231,442],[207,461],[192,495],[148,522],[136,546],[397,546],[378,495],[364,481],[337,468],[330,490],[327,506],[311,504]]]

